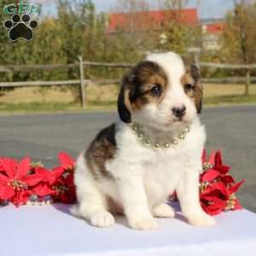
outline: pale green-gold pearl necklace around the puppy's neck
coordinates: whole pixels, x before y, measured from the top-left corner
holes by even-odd
[[[131,123],[131,130],[137,135],[137,139],[141,141],[146,147],[160,149],[160,148],[170,148],[171,146],[177,146],[178,143],[183,141],[187,134],[190,131],[190,125],[187,125],[186,128],[176,137],[173,138],[171,142],[166,143],[152,143],[151,140],[145,133],[141,130],[142,125],[138,125],[136,123]]]

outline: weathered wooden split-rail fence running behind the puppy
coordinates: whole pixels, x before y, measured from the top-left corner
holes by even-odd
[[[107,85],[107,84],[118,84],[119,79],[102,79],[93,81],[84,78],[84,67],[113,67],[113,68],[130,68],[133,67],[132,63],[106,63],[106,62],[93,62],[93,61],[83,61],[82,57],[79,56],[79,62],[73,64],[49,64],[49,65],[7,65],[0,66],[0,73],[14,73],[14,72],[24,72],[24,71],[36,71],[36,70],[54,70],[63,68],[79,68],[79,79],[73,80],[60,80],[60,81],[22,81],[22,82],[1,82],[0,88],[4,87],[29,87],[29,86],[58,86],[58,85],[79,85],[81,105],[84,108],[86,106],[86,87],[88,84],[92,85]],[[251,83],[256,83],[256,77],[251,76],[253,69],[256,69],[256,64],[252,65],[232,65],[232,64],[221,64],[221,63],[211,63],[211,62],[200,62],[200,67],[212,67],[220,69],[243,69],[246,70],[245,77],[226,77],[226,78],[211,78],[202,79],[204,83],[245,83],[246,90],[245,95],[248,94],[249,85]]]

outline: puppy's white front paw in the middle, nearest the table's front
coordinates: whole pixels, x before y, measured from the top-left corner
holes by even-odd
[[[156,230],[158,227],[157,221],[150,214],[134,214],[128,218],[128,222],[134,230]]]

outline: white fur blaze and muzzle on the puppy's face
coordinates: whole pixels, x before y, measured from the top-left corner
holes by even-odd
[[[148,55],[146,60],[156,62],[165,71],[170,89],[166,91],[160,105],[148,104],[132,118],[158,130],[179,130],[180,125],[184,124],[176,122],[177,117],[171,114],[172,108],[185,106],[184,123],[189,123],[196,114],[195,104],[185,94],[181,84],[181,78],[185,73],[183,60],[180,55],[172,52]]]

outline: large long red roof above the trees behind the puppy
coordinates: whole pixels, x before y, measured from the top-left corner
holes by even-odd
[[[161,26],[163,22],[170,19],[177,19],[180,24],[187,26],[196,26],[199,22],[197,9],[173,9],[141,11],[135,14],[130,13],[113,13],[110,14],[107,32],[116,32],[119,28],[129,31],[131,28],[131,19],[139,28],[147,28],[152,26]],[[178,18],[177,18],[178,17]]]

